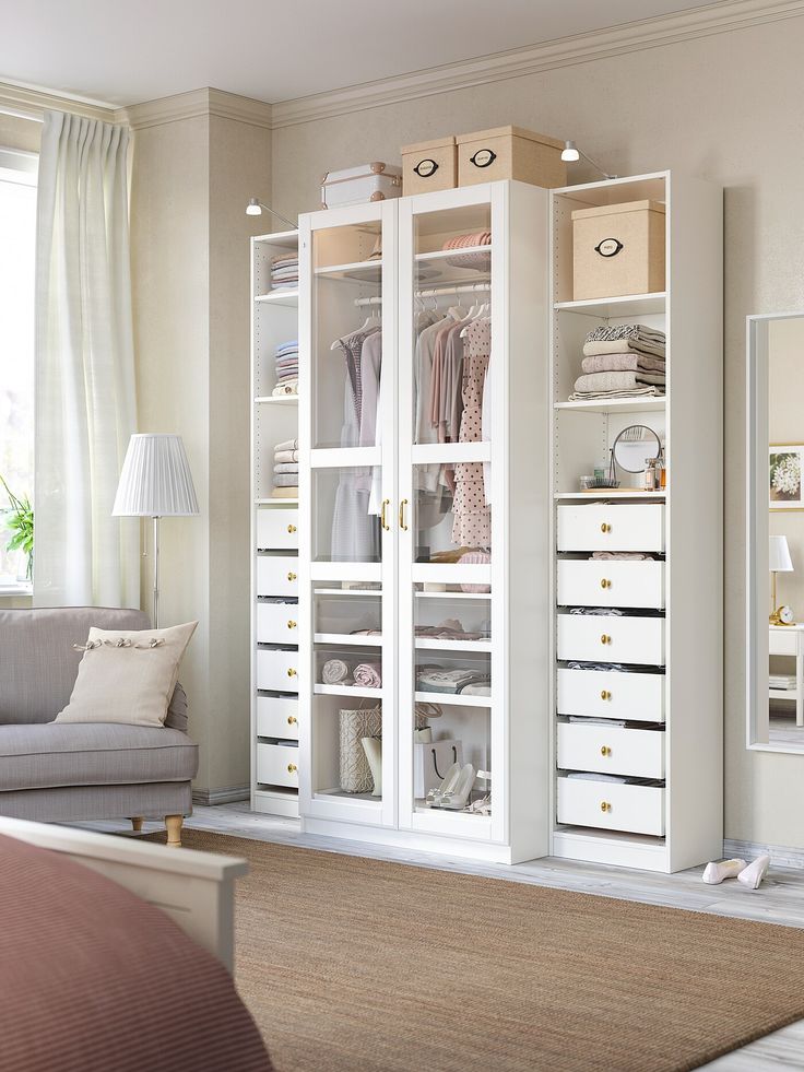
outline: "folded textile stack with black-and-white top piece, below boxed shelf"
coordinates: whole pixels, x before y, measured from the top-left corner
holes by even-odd
[[[581,367],[570,401],[664,394],[665,334],[643,323],[601,326],[587,335]]]

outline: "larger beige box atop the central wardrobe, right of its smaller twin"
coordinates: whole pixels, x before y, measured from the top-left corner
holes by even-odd
[[[510,178],[552,189],[567,185],[564,142],[522,127],[458,134],[458,185]]]

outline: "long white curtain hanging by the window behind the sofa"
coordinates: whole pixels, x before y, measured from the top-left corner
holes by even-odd
[[[126,127],[45,115],[36,250],[34,603],[139,606],[111,517],[135,431]]]

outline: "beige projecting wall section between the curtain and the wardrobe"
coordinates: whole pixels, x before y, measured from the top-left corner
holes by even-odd
[[[163,520],[159,558],[161,623],[200,622],[181,679],[201,791],[249,784],[248,237],[264,220],[244,209],[269,193],[270,155],[269,131],[217,116],[135,131],[140,431],[184,437],[201,509]]]

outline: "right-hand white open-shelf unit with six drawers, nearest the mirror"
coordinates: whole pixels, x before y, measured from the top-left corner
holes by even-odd
[[[572,301],[572,211],[640,200],[666,207],[666,291]],[[678,871],[722,853],[722,190],[662,172],[554,190],[551,209],[551,851]],[[570,401],[587,333],[632,322],[666,332],[666,394]],[[635,424],[663,440],[666,487],[618,471],[581,492]]]

